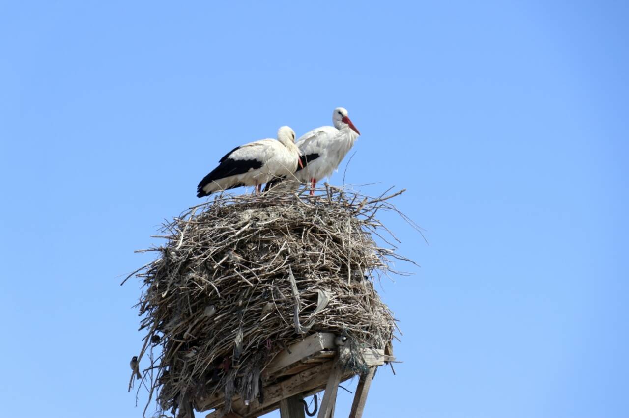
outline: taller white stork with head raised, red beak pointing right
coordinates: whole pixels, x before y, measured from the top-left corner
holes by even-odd
[[[295,176],[302,183],[310,184],[310,195],[315,194],[316,183],[337,169],[360,132],[353,126],[347,110],[337,107],[332,113],[334,126],[321,126],[297,140],[303,168]]]

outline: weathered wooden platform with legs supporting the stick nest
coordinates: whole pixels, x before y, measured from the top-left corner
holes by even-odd
[[[258,417],[272,410],[281,409],[282,418],[301,418],[304,417],[304,411],[300,399],[326,389],[317,417],[332,417],[338,384],[355,375],[337,367],[338,353],[340,350],[348,349],[343,345],[337,346],[335,338],[337,336],[331,333],[315,333],[281,351],[262,370],[264,403],[260,404],[257,399],[246,403],[235,396],[231,400],[233,414],[227,416]],[[342,344],[342,341],[338,339],[337,341]],[[350,418],[359,418],[362,415],[376,367],[395,360],[393,356],[385,355],[384,350],[374,348],[364,349],[363,356],[370,371],[360,378]],[[218,409],[206,415],[206,418],[218,418],[220,408],[224,404],[223,394],[216,394],[198,401],[197,407],[199,411]]]

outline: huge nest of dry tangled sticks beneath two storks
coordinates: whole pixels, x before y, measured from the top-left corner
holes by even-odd
[[[167,242],[151,249],[160,257],[137,274],[148,402],[174,413],[222,391],[227,412],[234,394],[264,396],[261,371],[306,333],[390,345],[394,318],[374,281],[404,257],[375,215],[396,211],[394,195],[223,195],[164,225]],[[360,358],[351,363],[360,372]]]

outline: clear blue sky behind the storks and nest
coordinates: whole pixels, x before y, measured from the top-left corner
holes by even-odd
[[[343,106],[430,242],[386,217],[421,268],[365,416],[629,416],[626,3],[314,3],[0,3],[2,414],[139,417],[133,250]]]

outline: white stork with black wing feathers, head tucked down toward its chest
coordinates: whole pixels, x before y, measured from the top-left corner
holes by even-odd
[[[282,126],[277,131],[277,141],[260,139],[235,147],[225,154],[218,167],[197,186],[197,197],[240,186],[255,186],[255,192],[260,193],[262,184],[272,178],[292,176],[302,164],[299,155],[295,132],[288,126]]]

